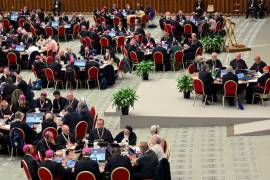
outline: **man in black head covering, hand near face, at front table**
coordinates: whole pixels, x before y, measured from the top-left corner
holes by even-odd
[[[132,127],[127,125],[123,131],[121,131],[115,136],[114,141],[117,143],[127,142],[129,145],[135,146],[136,141],[137,141],[137,136],[133,132]]]

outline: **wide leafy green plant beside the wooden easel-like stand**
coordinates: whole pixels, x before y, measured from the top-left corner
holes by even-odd
[[[203,48],[205,52],[212,53],[217,52],[219,53],[221,48],[224,45],[224,39],[220,35],[211,35],[206,36],[202,39]]]

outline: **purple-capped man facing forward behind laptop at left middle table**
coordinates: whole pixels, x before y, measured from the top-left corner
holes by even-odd
[[[52,110],[52,102],[47,98],[47,93],[42,91],[39,98],[35,99],[34,107],[38,108],[41,112],[48,112]]]

